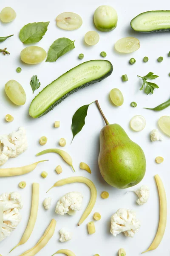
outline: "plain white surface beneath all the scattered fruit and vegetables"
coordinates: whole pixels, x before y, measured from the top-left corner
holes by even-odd
[[[95,9],[102,4],[111,5],[116,9],[118,13],[118,25],[112,32],[98,31],[100,36],[99,43],[94,47],[88,47],[84,44],[84,35],[89,30],[96,30],[93,24],[93,14]],[[0,243],[0,254],[7,256],[9,250],[20,241],[30,214],[31,186],[33,182],[38,182],[40,183],[40,205],[34,231],[27,243],[15,249],[11,253],[11,256],[18,256],[25,250],[33,247],[44,233],[52,218],[57,220],[54,236],[48,242],[48,245],[37,254],[39,256],[50,256],[55,251],[63,248],[73,250],[76,256],[94,256],[95,253],[98,253],[100,256],[116,256],[120,247],[125,248],[127,256],[140,255],[151,244],[159,223],[159,197],[154,180],[154,175],[156,174],[159,174],[164,182],[167,192],[168,208],[170,207],[168,197],[170,193],[170,139],[163,135],[164,140],[162,142],[151,143],[149,135],[153,128],[158,128],[159,118],[169,115],[170,108],[161,112],[143,109],[143,107],[155,107],[166,101],[170,96],[170,77],[168,76],[170,72],[170,58],[167,57],[167,53],[170,51],[170,34],[168,32],[155,34],[135,33],[130,29],[130,20],[139,13],[148,10],[169,9],[168,1],[1,0],[0,9],[6,6],[14,8],[17,12],[17,18],[11,23],[0,23],[0,36],[14,34],[14,37],[0,43],[0,48],[7,47],[8,51],[11,52],[9,56],[0,55],[0,133],[8,134],[13,130],[17,130],[19,126],[24,126],[27,130],[28,150],[19,157],[8,160],[3,168],[23,166],[43,159],[49,159],[50,161],[40,164],[33,172],[23,177],[0,178],[0,194],[18,191],[21,193],[24,202],[24,207],[21,211],[23,219],[18,225],[17,230],[11,233],[11,236],[5,241]],[[55,18],[61,12],[78,13],[83,20],[82,26],[75,31],[59,29],[56,26]],[[28,45],[24,46],[20,41],[20,29],[27,23],[39,21],[50,21],[50,24],[45,36],[36,44],[37,46],[43,47],[48,51],[50,45],[57,38],[67,37],[71,40],[76,40],[76,48],[54,63],[45,63],[44,61],[41,64],[32,66],[23,64],[20,61],[20,51]],[[140,49],[132,54],[120,55],[114,51],[113,46],[118,39],[126,36],[135,36],[138,38],[140,40]],[[113,64],[114,69],[111,76],[98,84],[86,87],[69,96],[68,99],[65,99],[53,111],[40,119],[32,119],[28,116],[28,108],[31,100],[43,87],[83,61],[101,59],[102,57],[99,55],[101,51],[107,52],[107,59]],[[83,61],[77,58],[79,53],[84,53],[85,58]],[[147,63],[142,62],[144,56],[149,57]],[[164,57],[162,63],[156,61],[159,56]],[[128,64],[131,57],[136,59],[136,64],[133,66]],[[21,73],[16,72],[17,67],[22,68]],[[137,75],[144,76],[150,71],[159,75],[159,78],[156,79],[159,89],[154,90],[153,95],[147,96],[142,91],[139,91],[142,81],[137,78]],[[124,83],[121,81],[123,74],[127,74],[129,81]],[[37,75],[41,82],[40,89],[35,91],[34,95],[32,95],[29,85],[29,81],[33,75]],[[27,95],[27,101],[24,106],[18,107],[8,100],[4,86],[10,79],[15,79],[23,85]],[[124,95],[124,104],[119,108],[114,107],[108,97],[110,90],[115,87],[119,88]],[[95,99],[99,100],[108,121],[122,125],[130,139],[138,143],[144,150],[147,159],[147,172],[140,185],[145,184],[150,187],[150,199],[146,205],[138,206],[136,204],[136,195],[132,192],[125,194],[130,189],[115,189],[102,179],[97,159],[99,154],[99,132],[105,124],[95,104],[90,106],[86,124],[71,144],[71,119],[73,114],[80,106],[91,103]],[[132,101],[137,102],[138,105],[136,108],[130,107],[130,102]],[[4,121],[6,114],[14,116],[12,123]],[[129,122],[134,115],[143,115],[146,119],[146,127],[141,132],[130,130]],[[54,128],[54,121],[56,120],[60,120],[60,128]],[[43,147],[38,142],[41,136],[48,137],[48,143]],[[72,172],[71,168],[57,154],[51,153],[41,157],[35,157],[35,154],[41,151],[42,148],[58,148],[58,142],[61,137],[67,140],[67,145],[64,149],[73,158],[76,174]],[[164,163],[160,165],[156,164],[155,158],[157,156],[164,157]],[[88,163],[91,167],[91,175],[79,169],[79,163],[81,161]],[[54,170],[58,164],[61,164],[63,168],[63,172],[59,176],[57,176]],[[48,172],[46,179],[40,176],[40,173],[44,170]],[[46,211],[42,206],[42,201],[47,196],[45,192],[55,181],[75,175],[83,175],[93,180],[98,192],[93,211],[80,227],[77,227],[77,222],[90,198],[90,191],[85,184],[74,183],[54,188],[48,193],[48,196],[53,198],[51,209]],[[25,180],[27,183],[26,188],[23,190],[18,188],[18,183],[21,180]],[[134,187],[134,189],[138,186]],[[103,200],[100,197],[100,193],[104,190],[109,192],[109,198],[107,200]],[[58,199],[65,193],[71,191],[79,191],[84,195],[82,211],[77,212],[77,215],[74,217],[56,215],[55,206]],[[115,238],[110,233],[111,215],[119,208],[135,210],[137,218],[142,222],[139,233],[133,239],[127,238],[123,234]],[[102,219],[95,222],[96,233],[90,236],[87,232],[87,223],[93,220],[92,216],[96,211],[101,213]],[[59,242],[59,230],[62,227],[68,228],[73,232],[73,239],[64,244]],[[168,245],[168,241],[170,240],[169,229],[170,220],[168,218],[166,232],[160,246],[155,251],[149,252],[148,255],[160,256],[170,253]]]

